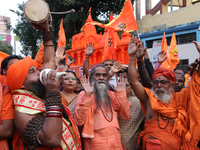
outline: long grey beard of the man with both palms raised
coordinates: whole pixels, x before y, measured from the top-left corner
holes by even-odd
[[[99,82],[104,83],[99,84]],[[109,106],[108,84],[105,81],[100,80],[94,83],[94,98],[97,103],[97,109],[100,105],[103,106],[103,108]]]

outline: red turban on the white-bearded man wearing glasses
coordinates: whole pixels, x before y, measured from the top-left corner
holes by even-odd
[[[172,70],[167,69],[167,68],[160,67],[156,69],[152,75],[152,79],[154,79],[157,76],[165,76],[168,79],[170,79],[172,82],[176,81],[175,73]]]

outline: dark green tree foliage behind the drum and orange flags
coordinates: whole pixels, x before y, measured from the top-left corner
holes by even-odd
[[[73,35],[80,33],[81,27],[85,24],[89,8],[92,8],[91,15],[94,21],[103,23],[108,22],[109,14],[112,11],[114,14],[119,14],[125,0],[45,0],[49,4],[51,12],[64,12],[75,9],[75,13],[69,14],[52,14],[51,31],[54,35],[54,45],[56,47],[59,25],[63,18],[63,26],[66,35],[67,49],[70,48],[71,38]],[[132,0],[133,2],[134,0]],[[35,57],[37,50],[42,41],[41,31],[36,31],[24,17],[23,8],[25,3],[18,4],[19,10],[14,11],[21,19],[18,21],[13,32],[20,37],[22,45],[21,53],[25,56],[31,55]],[[102,17],[99,16],[104,16]],[[97,32],[102,32],[103,29],[97,27]]]

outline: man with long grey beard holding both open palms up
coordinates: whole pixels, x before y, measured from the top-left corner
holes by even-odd
[[[92,68],[90,82],[81,79],[84,91],[78,96],[74,118],[83,125],[85,150],[122,150],[117,114],[129,119],[130,104],[126,96],[124,78],[121,76],[115,92],[108,89],[108,69],[103,65]]]

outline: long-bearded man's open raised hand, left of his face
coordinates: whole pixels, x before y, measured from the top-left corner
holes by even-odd
[[[90,82],[89,82],[89,77],[88,79],[86,78],[86,75],[83,75],[83,77],[81,78],[81,84],[83,86],[83,89],[85,91],[85,94],[87,96],[90,97],[90,95],[93,93],[94,91],[94,84],[90,85]]]

